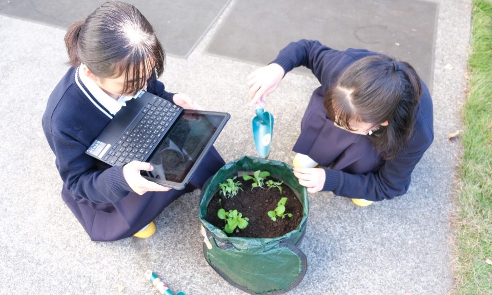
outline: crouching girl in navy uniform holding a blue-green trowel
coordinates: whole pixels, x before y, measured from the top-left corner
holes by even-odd
[[[321,84],[293,147],[299,183],[358,206],[404,194],[434,140],[432,100],[414,68],[367,50],[301,40],[248,77],[251,104],[298,66],[311,69]]]

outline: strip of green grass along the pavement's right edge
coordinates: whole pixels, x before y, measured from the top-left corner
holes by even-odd
[[[492,294],[492,0],[474,0],[457,199],[456,294]]]

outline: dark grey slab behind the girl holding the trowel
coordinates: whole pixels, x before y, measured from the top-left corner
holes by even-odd
[[[314,39],[406,61],[432,89],[436,21],[437,4],[426,1],[238,1],[207,51],[262,65],[289,42]]]

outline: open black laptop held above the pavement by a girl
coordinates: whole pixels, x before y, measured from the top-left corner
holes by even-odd
[[[230,119],[226,112],[183,110],[147,91],[126,102],[86,150],[111,166],[149,162],[146,179],[183,189]]]

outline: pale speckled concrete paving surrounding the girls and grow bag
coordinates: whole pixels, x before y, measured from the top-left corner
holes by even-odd
[[[435,141],[404,196],[355,207],[330,192],[310,195],[301,250],[303,281],[288,294],[446,294],[452,288],[453,192],[470,31],[470,1],[441,0],[434,70]],[[246,106],[246,76],[257,65],[206,53],[233,10],[223,11],[187,60],[170,57],[161,80],[231,120],[216,147],[229,162],[255,155],[254,110]],[[144,271],[189,295],[245,294],[208,266],[202,254],[199,190],[156,219],[150,239],[91,242],[60,198],[61,181],[40,126],[48,96],[67,56],[61,29],[0,16],[0,294],[157,294]],[[164,45],[166,47],[166,44]],[[254,46],[259,47],[258,44]],[[268,98],[275,116],[271,158],[291,163],[312,76],[289,73]],[[25,108],[19,111],[18,105]],[[240,128],[236,128],[239,126]]]

